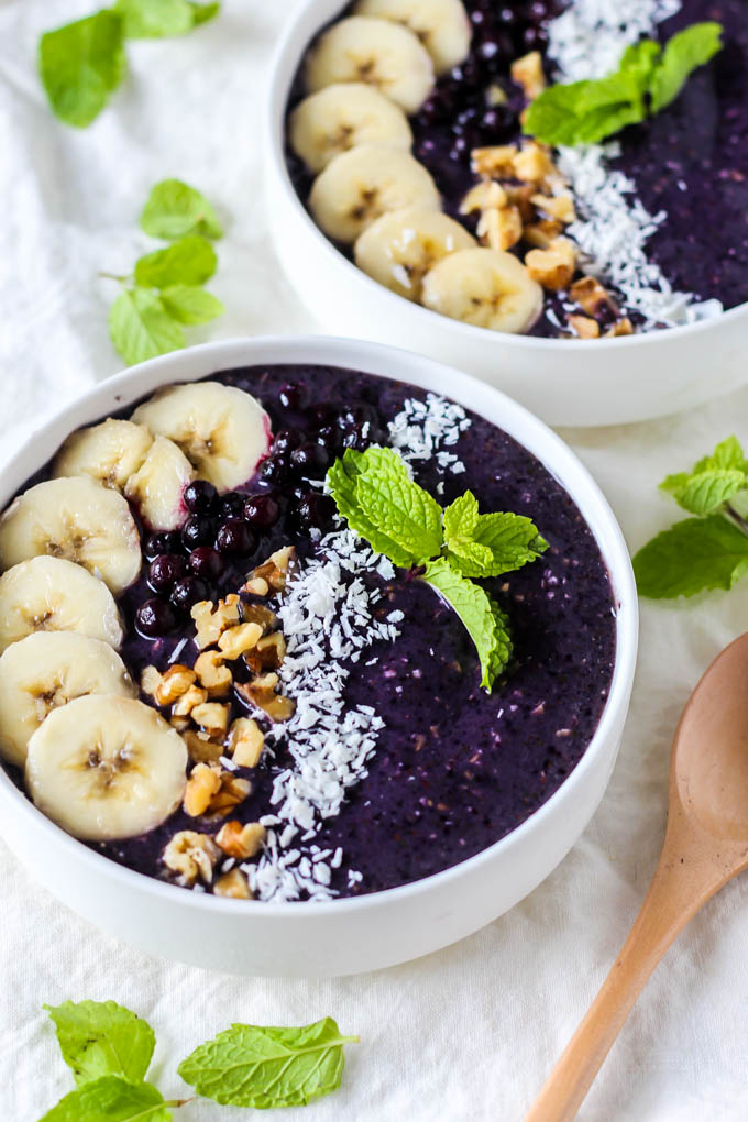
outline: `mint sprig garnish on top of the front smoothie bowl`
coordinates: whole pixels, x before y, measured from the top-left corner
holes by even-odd
[[[338,513],[377,553],[419,576],[455,610],[475,644],[481,686],[491,691],[511,657],[509,620],[471,578],[519,569],[548,548],[523,515],[480,514],[471,491],[445,511],[391,448],[347,449],[327,472]]]

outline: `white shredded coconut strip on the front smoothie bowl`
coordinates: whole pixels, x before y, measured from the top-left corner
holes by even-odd
[[[389,425],[390,441],[406,462],[435,459],[440,472],[460,472],[464,465],[443,445],[454,447],[470,423],[461,406],[430,394],[425,403],[405,402]],[[338,894],[331,881],[343,852],[323,849],[313,838],[325,819],[340,813],[347,791],[367,776],[385,727],[372,706],[347,708],[344,700],[345,663],[400,634],[401,613],[391,611],[387,620],[372,615],[382,597],[377,577],[391,580],[393,563],[350,530],[338,528],[318,541],[315,557],[303,562],[275,606],[286,640],[278,673],[296,711],[270,730],[293,765],[275,771],[275,812],[260,818],[267,828],[260,859],[241,866],[258,900],[323,901]],[[349,871],[349,888],[361,880]]]

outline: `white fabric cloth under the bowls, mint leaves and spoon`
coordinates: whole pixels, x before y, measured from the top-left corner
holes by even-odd
[[[107,335],[111,283],[153,248],[138,232],[150,186],[176,175],[221,208],[227,237],[211,288],[227,314],[191,339],[314,328],[265,233],[258,132],[284,0],[224,0],[182,40],[133,43],[132,76],[92,128],[49,113],[34,56],[41,30],[92,0],[0,0],[0,448],[22,422],[120,367]],[[334,331],[334,324],[326,325]],[[704,371],[709,377],[709,371]],[[676,516],[656,490],[733,431],[748,390],[627,429],[565,433],[611,500],[632,549]],[[669,738],[701,671],[748,619],[748,582],[687,607],[643,605],[626,737],[604,802],[572,854],[524,903],[418,963],[343,981],[238,980],[148,958],[100,935],[38,889],[0,843],[0,1116],[34,1122],[71,1088],[43,1002],[113,997],[158,1036],[155,1076],[231,1021],[334,1015],[359,1032],[340,1092],[308,1122],[482,1122],[521,1116],[612,963],[653,872],[664,828]],[[736,1122],[748,1118],[748,884],[733,882],[668,954],[580,1118]],[[168,951],[168,948],[164,948]],[[247,1114],[195,1102],[176,1118]],[[269,1118],[281,1118],[270,1112]]]

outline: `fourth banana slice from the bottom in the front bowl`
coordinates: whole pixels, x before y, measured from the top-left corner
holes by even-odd
[[[140,572],[140,537],[127,499],[86,476],[24,491],[0,517],[0,568],[43,554],[82,564],[119,595]]]

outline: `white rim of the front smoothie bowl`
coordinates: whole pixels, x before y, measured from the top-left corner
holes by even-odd
[[[417,385],[426,390],[431,388],[432,392],[441,392],[434,390],[433,385],[430,385],[434,380],[438,380],[435,379],[435,375],[440,375],[442,378],[449,377],[451,386],[454,385],[456,390],[454,396],[450,390],[450,396],[453,396],[454,401],[473,410],[479,416],[483,416],[499,427],[505,426],[505,420],[508,421],[509,424],[505,431],[523,448],[530,451],[530,454],[539,459],[546,470],[558,479],[561,486],[580,507],[588,525],[589,516],[582,512],[582,506],[591,509],[595,519],[601,523],[601,528],[592,531],[592,533],[608,567],[616,600],[616,607],[612,609],[616,616],[616,655],[608,698],[584,754],[556,791],[509,834],[472,857],[430,876],[361,896],[344,896],[324,902],[251,901],[251,913],[248,912],[248,918],[251,914],[256,918],[265,916],[288,922],[302,922],[305,917],[330,917],[338,912],[371,911],[389,902],[394,903],[408,896],[415,899],[434,889],[449,888],[452,881],[473,872],[480,872],[481,866],[488,865],[499,852],[510,855],[512,850],[525,844],[526,838],[541,829],[545,819],[554,812],[558,803],[572,799],[576,789],[584,784],[588,772],[594,766],[595,757],[604,751],[610,737],[616,735],[617,725],[619,723],[622,725],[626,717],[637,659],[638,600],[628,548],[608,500],[581,460],[552,429],[523,405],[472,375],[412,351],[367,340],[332,335],[256,335],[203,343],[138,364],[96,383],[64,408],[45,417],[3,463],[3,475],[26,457],[34,459],[36,463],[34,471],[38,470],[40,463],[36,448],[45,449],[41,462],[46,462],[49,459],[49,441],[45,441],[45,436],[54,436],[54,440],[57,440],[55,431],[63,426],[64,434],[59,438],[61,443],[65,435],[75,429],[96,423],[98,419],[103,419],[108,415],[107,410],[112,412],[114,407],[127,408],[145,394],[155,393],[161,385],[178,383],[181,378],[193,381],[242,365],[270,365],[273,362],[286,365],[293,362],[293,359],[280,356],[268,359],[265,356],[258,357],[256,353],[268,349],[283,351],[285,348],[298,349],[304,352],[304,358],[296,359],[299,365],[340,366],[341,369],[358,368],[377,377],[390,377],[396,381]],[[202,373],[185,373],[184,367],[191,366],[196,359],[201,360],[198,365]],[[353,362],[358,362],[360,366],[353,366]],[[370,365],[386,368],[388,373],[369,370]],[[154,379],[154,385],[147,389],[136,388],[133,392],[133,384],[137,387],[140,383],[150,381],[154,375],[160,376]],[[111,398],[116,405],[104,405],[107,398]],[[496,416],[501,419],[500,422],[496,417],[486,416],[482,412],[484,399],[492,399],[496,403],[495,412]],[[525,438],[515,435],[514,430],[517,427],[527,430],[527,435],[533,438],[532,443],[543,444],[543,452],[541,453],[537,448],[527,448]],[[34,471],[29,475],[33,475]],[[560,471],[562,475],[576,477],[573,490],[572,485],[561,477]],[[592,530],[591,526],[590,530]],[[104,876],[112,877],[123,889],[139,891],[149,898],[160,898],[165,903],[170,900],[174,904],[201,911],[237,914],[236,900],[221,899],[211,893],[190,891],[181,885],[159,881],[147,873],[139,873],[128,866],[120,865],[104,854],[90,848],[84,842],[67,834],[38,810],[26,793],[16,787],[4,767],[0,767],[0,803],[4,799],[15,802],[16,809],[21,815],[29,815],[34,819],[35,826],[43,834],[48,835],[49,845],[53,845],[57,850],[70,854],[72,861],[91,867],[93,873],[98,871]]]

